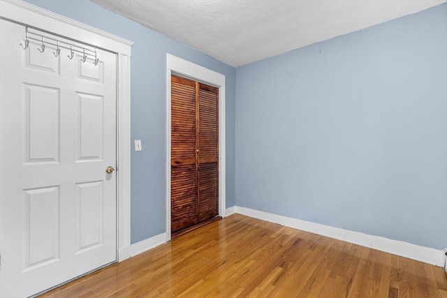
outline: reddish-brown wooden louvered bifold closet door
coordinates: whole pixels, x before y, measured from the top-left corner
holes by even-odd
[[[219,89],[171,77],[171,230],[219,214]]]

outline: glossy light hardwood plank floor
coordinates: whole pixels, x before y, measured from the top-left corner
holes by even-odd
[[[233,214],[43,297],[447,297],[441,267]]]

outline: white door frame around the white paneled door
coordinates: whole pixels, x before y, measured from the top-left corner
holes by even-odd
[[[19,0],[0,0],[0,18],[117,54],[117,260],[131,246],[131,45],[133,42]],[[0,28],[1,29],[1,28]],[[24,37],[24,36],[23,36]],[[21,50],[17,45],[17,51]],[[101,59],[101,58],[100,58]],[[0,69],[1,75],[1,69]],[[0,138],[0,150],[4,146]],[[0,200],[1,210],[1,200]],[[1,231],[1,227],[0,227]],[[3,239],[0,234],[0,253]],[[1,269],[0,269],[1,275]]]

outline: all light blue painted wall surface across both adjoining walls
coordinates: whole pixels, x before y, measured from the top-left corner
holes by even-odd
[[[226,75],[227,207],[447,247],[447,4],[235,70],[90,1],[29,2],[135,42],[132,243],[165,231],[169,52]]]

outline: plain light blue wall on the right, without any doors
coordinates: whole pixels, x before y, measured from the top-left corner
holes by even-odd
[[[447,247],[447,4],[236,70],[236,205]]]

